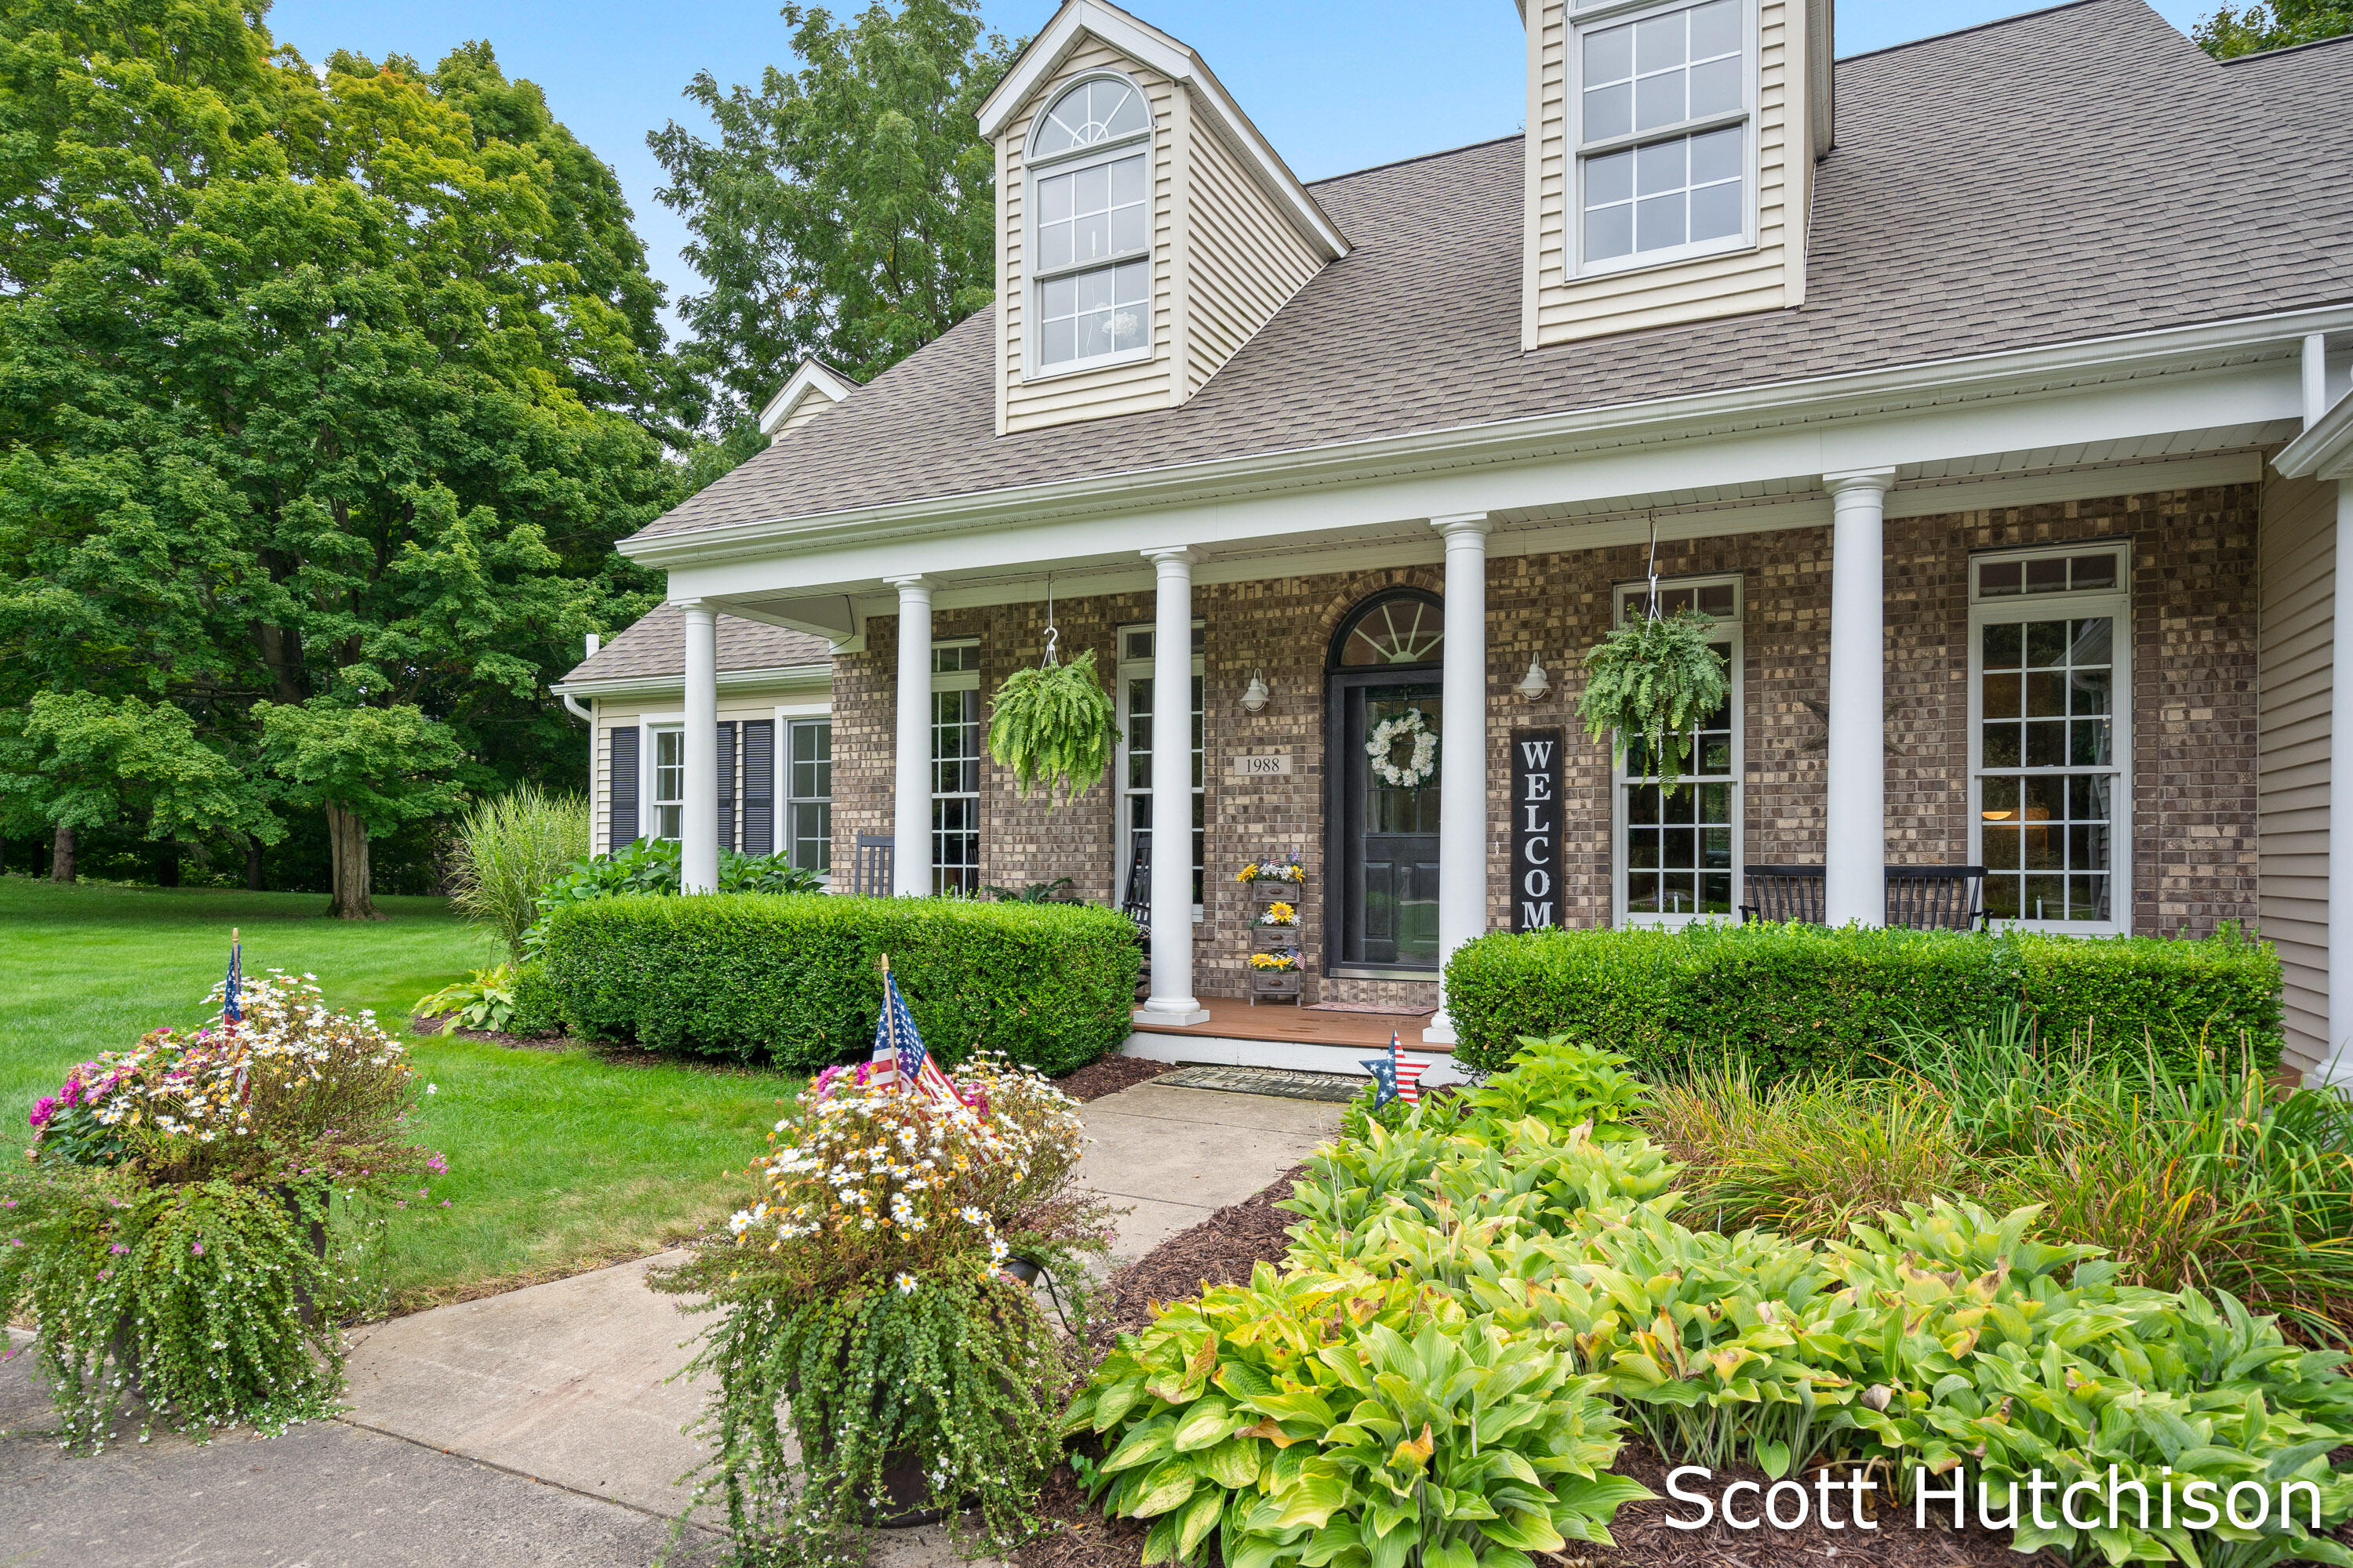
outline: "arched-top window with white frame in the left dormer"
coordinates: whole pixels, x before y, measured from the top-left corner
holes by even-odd
[[[1141,360],[1153,343],[1153,110],[1120,75],[1064,89],[1031,132],[1031,367]]]

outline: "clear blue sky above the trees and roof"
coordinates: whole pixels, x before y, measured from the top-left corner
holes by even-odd
[[[835,14],[861,0],[838,2]],[[1038,31],[1056,0],[984,0],[1007,35]],[[1301,179],[1508,136],[1525,78],[1511,0],[1129,0],[1200,49]],[[1951,33],[2021,9],[2017,0],[1840,0],[1838,52]],[[2188,31],[2214,0],[2155,0]],[[1442,21],[1440,21],[1442,19]],[[774,0],[278,0],[271,31],[318,61],[329,49],[414,54],[426,66],[487,38],[506,73],[539,82],[555,115],[621,174],[654,275],[692,292],[685,226],[654,202],[661,165],[645,134],[692,113],[680,89],[708,68],[758,80],[781,61]]]

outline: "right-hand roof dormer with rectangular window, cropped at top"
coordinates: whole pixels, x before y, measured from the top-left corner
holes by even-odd
[[[1525,348],[1805,303],[1831,0],[1525,0]]]

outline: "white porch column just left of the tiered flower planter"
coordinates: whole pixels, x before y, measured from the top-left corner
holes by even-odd
[[[1139,1023],[1207,1023],[1193,994],[1193,552],[1146,550],[1153,599],[1153,990]]]

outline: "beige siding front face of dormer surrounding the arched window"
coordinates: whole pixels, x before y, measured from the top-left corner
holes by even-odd
[[[1064,87],[1092,71],[1118,71],[1127,75],[1153,108],[1153,353],[1129,364],[1104,369],[1028,376],[1028,343],[1024,329],[1031,317],[1028,259],[1028,132],[1038,113],[1052,103]],[[1054,80],[1047,82],[1028,108],[1005,127],[998,139],[998,353],[1002,360],[998,397],[998,433],[1035,430],[1075,418],[1104,418],[1111,414],[1136,414],[1165,409],[1172,402],[1174,364],[1174,294],[1172,259],[1174,221],[1172,188],[1176,181],[1176,136],[1172,132],[1172,103],[1176,85],[1148,71],[1111,47],[1087,40],[1071,52]]]

